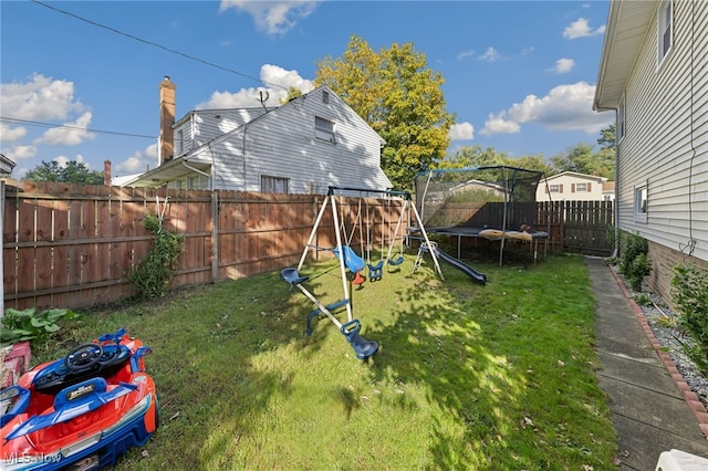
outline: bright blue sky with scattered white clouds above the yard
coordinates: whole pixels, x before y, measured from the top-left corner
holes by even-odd
[[[157,165],[165,75],[177,118],[260,106],[259,90],[274,106],[290,86],[311,90],[317,61],[355,34],[374,50],[412,42],[442,74],[457,116],[449,153],[550,158],[595,145],[614,121],[592,111],[607,11],[608,1],[3,0],[0,153],[14,178],[42,160],[140,172]]]

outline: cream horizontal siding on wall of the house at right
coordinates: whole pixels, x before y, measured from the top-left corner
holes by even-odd
[[[673,3],[671,56],[657,70],[658,24],[655,18],[625,85],[617,223],[675,250],[693,237],[694,255],[708,260],[708,2]],[[646,222],[635,217],[635,190],[644,186]]]

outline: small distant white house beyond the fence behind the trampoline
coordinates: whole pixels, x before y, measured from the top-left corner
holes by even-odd
[[[603,201],[605,177],[563,171],[539,182],[537,201]]]

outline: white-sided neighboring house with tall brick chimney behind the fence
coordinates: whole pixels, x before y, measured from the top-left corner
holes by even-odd
[[[384,140],[326,85],[275,108],[174,116],[175,85],[165,77],[160,165],[123,186],[280,193],[392,187],[381,169]]]

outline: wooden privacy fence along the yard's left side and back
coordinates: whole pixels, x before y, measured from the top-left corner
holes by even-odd
[[[153,244],[146,214],[184,236],[170,287],[232,280],[293,266],[300,260],[324,196],[238,191],[185,191],[37,184],[6,186],[2,217],[4,307],[87,307],[135,294],[129,271]],[[397,199],[342,198],[339,210],[348,243],[400,244],[407,218]],[[361,221],[358,226],[355,221]],[[610,254],[605,239],[612,205],[537,205],[537,228],[550,223],[551,250]],[[354,230],[353,230],[354,229]],[[314,245],[335,245],[327,211]],[[314,257],[332,257],[313,251]]]

